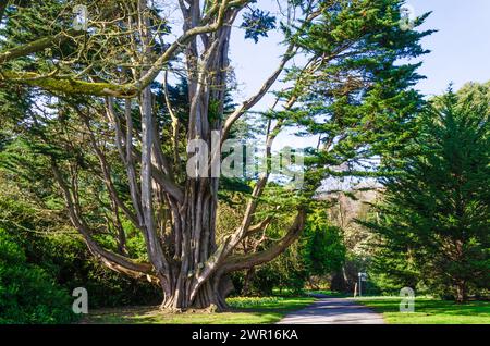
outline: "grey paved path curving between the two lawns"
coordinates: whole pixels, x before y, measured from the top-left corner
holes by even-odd
[[[384,324],[381,314],[348,298],[322,297],[279,324]]]

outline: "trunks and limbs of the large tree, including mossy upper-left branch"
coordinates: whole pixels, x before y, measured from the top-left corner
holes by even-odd
[[[124,26],[135,34],[134,54],[143,69],[121,69],[123,79],[132,76],[133,83],[87,82],[87,78],[39,76],[36,73],[15,74],[4,72],[0,76],[12,83],[33,85],[45,90],[66,95],[90,95],[105,98],[105,118],[115,134],[115,147],[127,178],[127,198],[120,196],[115,188],[111,166],[105,150],[100,149],[95,132],[90,126],[90,112],[87,108],[73,108],[83,119],[89,134],[89,144],[99,160],[102,182],[110,198],[111,211],[115,214],[119,254],[102,248],[94,235],[88,218],[79,201],[76,177],[63,170],[63,163],[51,157],[52,172],[61,187],[70,220],[84,237],[89,250],[111,270],[134,279],[146,279],[158,283],[163,293],[163,309],[185,310],[189,308],[225,309],[225,297],[232,289],[229,273],[250,269],[272,260],[290,246],[299,235],[305,222],[305,211],[298,210],[290,230],[282,239],[261,252],[236,255],[236,246],[247,236],[264,228],[270,220],[256,220],[255,211],[269,174],[258,180],[247,203],[243,222],[236,231],[217,244],[216,218],[218,210],[219,180],[207,176],[186,176],[184,183],[177,183],[175,175],[179,169],[179,155],[168,158],[163,152],[161,129],[156,120],[154,95],[150,83],[175,55],[183,51],[186,63],[188,84],[188,127],[186,144],[194,139],[205,140],[211,147],[212,132],[222,134],[221,143],[230,133],[234,122],[255,106],[277,81],[285,63],[292,58],[293,47],[289,47],[279,67],[259,88],[256,95],[244,101],[232,115],[223,120],[223,104],[229,72],[229,42],[232,24],[237,14],[249,0],[216,1],[204,11],[201,1],[180,1],[184,17],[183,34],[155,58],[150,10],[147,1],[131,2],[134,7],[123,21]],[[0,8],[0,15],[4,12]],[[131,14],[130,14],[131,13]],[[0,63],[19,57],[42,51],[46,47],[56,46],[68,40],[64,34],[39,39],[30,45],[14,49],[0,55]],[[72,39],[72,38],[71,38]],[[155,58],[155,59],[154,59]],[[137,65],[135,62],[135,65]],[[26,78],[27,77],[27,78]],[[121,98],[118,100],[117,98]],[[137,102],[142,132],[136,134],[133,125],[132,104]],[[167,99],[168,102],[168,99]],[[295,98],[286,102],[290,108]],[[123,112],[120,111],[123,104]],[[169,104],[169,103],[168,103]],[[171,111],[171,107],[169,107]],[[120,114],[122,113],[122,114]],[[173,152],[179,152],[179,119],[172,116]],[[103,119],[103,118],[102,118]],[[267,153],[271,153],[272,141],[282,126],[279,121],[274,131],[267,136]],[[95,126],[94,126],[95,127]],[[140,151],[136,143],[140,141]],[[211,152],[211,156],[213,152]],[[209,161],[212,158],[209,157]],[[210,170],[210,168],[208,168]],[[126,200],[131,200],[131,207]],[[147,249],[148,262],[142,263],[127,257],[125,251],[125,234],[120,220],[124,215],[140,231]],[[253,222],[257,222],[253,225]]]

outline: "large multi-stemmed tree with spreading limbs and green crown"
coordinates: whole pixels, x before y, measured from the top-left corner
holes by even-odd
[[[87,5],[86,32],[72,28],[76,4]],[[342,164],[343,174],[345,168],[348,174],[363,171],[365,159],[382,155],[380,143],[403,146],[402,134],[420,106],[411,90],[418,64],[400,59],[425,53],[419,39],[429,33],[400,25],[402,1],[280,1],[279,17],[261,5],[49,0],[8,1],[2,9],[2,109],[24,110],[3,112],[2,122],[13,125],[12,138],[42,155],[44,174],[57,182],[90,251],[114,271],[161,285],[163,308],[224,308],[228,274],[279,256],[301,234],[322,180],[340,174]],[[228,113],[230,38],[241,14],[247,38],[280,29],[284,53],[256,94]],[[172,104],[170,74],[185,78],[187,107]],[[281,75],[285,83],[272,89]],[[210,166],[195,177],[185,168],[193,140],[211,147],[216,132],[223,144],[272,90],[275,102],[261,113],[267,159],[278,134],[293,125],[318,136],[318,147],[306,160],[303,186],[287,191],[294,198],[282,206],[280,221],[289,221],[283,237],[243,254],[244,239],[281,219],[277,209],[266,215],[260,208],[270,164],[256,176],[236,228],[220,237],[220,180],[208,174]],[[146,259],[125,250],[134,230]],[[113,234],[118,246],[98,242],[100,233]]]

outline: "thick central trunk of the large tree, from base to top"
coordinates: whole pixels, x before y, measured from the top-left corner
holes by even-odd
[[[184,30],[197,25],[200,15],[198,2],[193,2],[186,13]],[[236,12],[232,11],[224,15],[224,21],[231,23],[235,15]],[[211,149],[216,149],[211,132],[222,128],[230,34],[231,26],[223,26],[201,37],[204,47],[200,51],[197,38],[191,40],[186,49],[191,106],[187,140],[206,141],[210,149],[208,162],[212,160]],[[186,178],[182,202],[169,200],[174,247],[169,249],[173,252],[173,261],[170,283],[163,287],[162,308],[225,309],[230,283],[225,275],[215,273],[218,262],[224,259],[216,246],[218,178],[211,177],[210,168],[207,168],[205,176]]]

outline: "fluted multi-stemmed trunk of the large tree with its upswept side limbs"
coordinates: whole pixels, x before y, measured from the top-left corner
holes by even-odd
[[[184,32],[193,30],[200,24],[199,3],[199,1],[192,1],[188,3],[188,8],[184,5]],[[242,7],[235,4],[228,9],[226,3],[229,2],[224,1],[220,7],[216,26],[212,26],[216,28],[203,30],[197,36],[189,36],[177,42],[179,45],[175,44],[179,47],[186,47],[189,114],[185,139],[187,143],[195,139],[206,141],[208,148],[211,149],[208,152],[208,162],[212,162],[215,150],[220,149],[215,147],[217,146],[213,138],[215,132],[220,135],[229,133],[233,122],[267,92],[282,71],[285,61],[290,59],[285,58],[281,67],[260,88],[257,96],[244,102],[231,116],[232,121],[225,123],[223,103],[229,70],[229,40],[232,24]],[[137,18],[134,21],[130,18],[128,26],[132,26],[133,22],[138,24],[137,29],[144,53],[143,61],[146,65],[150,65],[152,38],[149,29],[151,27],[149,12],[145,0],[137,1]],[[198,39],[201,45],[197,44]],[[135,77],[138,81],[145,81],[146,76],[151,74],[151,69],[144,69]],[[72,181],[64,178],[53,159],[53,172],[62,187],[70,218],[83,234],[90,251],[107,267],[135,279],[146,277],[151,282],[159,283],[164,296],[162,309],[172,311],[224,310],[226,309],[225,297],[233,289],[229,274],[237,270],[249,270],[282,254],[297,239],[303,230],[305,210],[298,210],[286,235],[274,242],[269,249],[257,254],[234,254],[235,247],[253,234],[252,230],[255,232],[261,230],[270,221],[266,220],[257,225],[252,225],[253,221],[257,221],[255,211],[269,174],[261,176],[254,187],[243,222],[232,235],[221,239],[220,246],[217,246],[216,218],[219,181],[218,177],[211,176],[212,164],[205,168],[207,174],[197,177],[182,175],[180,181],[183,183],[177,183],[179,180],[175,176],[179,175],[180,168],[172,166],[169,163],[171,160],[164,155],[161,141],[167,138],[162,138],[162,132],[156,120],[151,87],[144,83],[142,85],[146,85],[146,87],[142,88],[138,95],[142,120],[140,137],[134,136],[136,126],[133,126],[132,100],[125,101],[124,128],[121,120],[118,119],[112,96],[107,99],[108,118],[115,128],[117,147],[126,169],[134,211],[126,208],[119,198],[111,182],[107,160],[103,160],[103,152],[96,151],[101,161],[106,183],[111,191],[109,197],[142,232],[149,262],[142,263],[138,260],[130,259],[127,254],[114,255],[103,249],[94,239],[94,230],[90,230],[84,220],[83,208],[77,198],[77,188],[70,184]],[[291,108],[294,102],[295,99],[290,100],[284,108]],[[225,123],[224,126],[223,123]],[[268,156],[270,156],[272,141],[281,126],[282,122],[279,121],[275,125],[278,131],[271,131],[267,135]],[[176,136],[175,132],[173,135]],[[138,139],[140,139],[140,152],[134,145]],[[222,140],[223,138],[219,138],[218,145]],[[176,144],[175,140],[173,143]],[[94,141],[93,145],[97,148],[97,141]],[[176,159],[175,161],[179,161]]]

